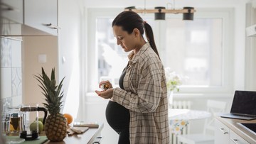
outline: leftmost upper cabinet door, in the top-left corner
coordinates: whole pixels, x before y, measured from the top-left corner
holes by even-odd
[[[23,1],[1,0],[1,16],[16,23],[23,23]]]

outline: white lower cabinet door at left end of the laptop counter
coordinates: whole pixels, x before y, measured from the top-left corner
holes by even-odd
[[[229,133],[229,128],[217,119],[215,119],[214,143],[229,143]]]

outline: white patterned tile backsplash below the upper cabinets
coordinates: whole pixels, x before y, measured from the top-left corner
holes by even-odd
[[[21,40],[1,37],[1,106],[22,104]]]

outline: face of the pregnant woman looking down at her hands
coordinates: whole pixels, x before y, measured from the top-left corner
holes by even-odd
[[[117,45],[121,45],[125,52],[134,50],[137,41],[134,31],[129,34],[127,31],[123,31],[121,26],[113,26],[113,33],[117,38]]]

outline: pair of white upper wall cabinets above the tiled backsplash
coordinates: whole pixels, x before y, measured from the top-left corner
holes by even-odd
[[[58,35],[58,0],[2,0],[4,36]]]

